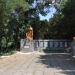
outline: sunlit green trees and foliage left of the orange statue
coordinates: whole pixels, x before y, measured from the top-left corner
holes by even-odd
[[[24,32],[26,23],[23,12],[29,6],[24,0],[0,0],[0,48],[7,51],[16,45],[18,36]],[[17,30],[17,31],[16,31]]]

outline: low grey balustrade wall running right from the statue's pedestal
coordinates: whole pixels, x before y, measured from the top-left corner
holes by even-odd
[[[70,40],[34,40],[35,49],[65,49],[70,44]]]

